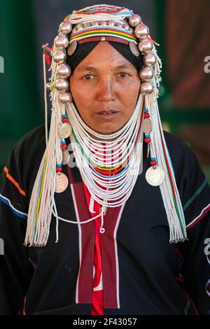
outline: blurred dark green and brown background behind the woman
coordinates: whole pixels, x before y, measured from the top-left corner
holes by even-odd
[[[0,167],[18,139],[44,123],[41,46],[72,10],[99,1],[4,0],[0,3]],[[160,43],[160,116],[192,148],[210,181],[209,0],[105,1],[141,15]],[[179,6],[178,6],[179,3]],[[209,58],[210,59],[210,58]],[[210,67],[209,67],[210,69]],[[50,109],[50,108],[49,108]]]

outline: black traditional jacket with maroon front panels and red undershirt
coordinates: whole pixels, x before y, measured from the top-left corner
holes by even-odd
[[[100,221],[59,221],[55,243],[52,216],[48,244],[24,246],[44,128],[22,137],[0,182],[0,314],[209,314],[209,186],[190,148],[164,134],[188,232],[178,244],[169,243],[160,188],[146,182],[144,143],[143,172],[127,202],[107,209],[103,234]],[[95,216],[98,205],[78,168],[66,165],[63,173],[69,186],[55,193],[59,216],[76,222]]]

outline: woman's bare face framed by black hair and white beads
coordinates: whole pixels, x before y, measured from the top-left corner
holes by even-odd
[[[106,41],[101,41],[70,77],[80,116],[102,134],[116,132],[127,123],[137,104],[140,84],[137,69]]]

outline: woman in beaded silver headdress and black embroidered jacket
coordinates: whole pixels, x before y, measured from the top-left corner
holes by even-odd
[[[160,64],[127,8],[60,25],[49,137],[1,174],[1,314],[209,314],[209,186],[162,131]]]

